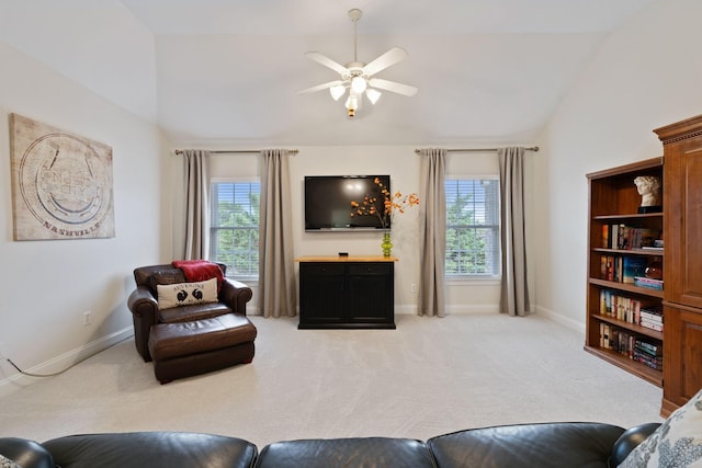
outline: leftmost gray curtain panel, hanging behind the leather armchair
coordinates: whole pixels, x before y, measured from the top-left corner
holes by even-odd
[[[183,150],[185,242],[183,260],[210,256],[210,151]]]

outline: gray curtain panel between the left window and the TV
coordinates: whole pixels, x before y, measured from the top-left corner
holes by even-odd
[[[259,310],[263,317],[296,315],[288,159],[286,149],[261,151]]]

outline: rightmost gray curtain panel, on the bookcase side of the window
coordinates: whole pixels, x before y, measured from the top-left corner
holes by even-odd
[[[497,150],[500,165],[500,242],[502,281],[500,312],[529,313],[526,246],[524,235],[524,148]]]

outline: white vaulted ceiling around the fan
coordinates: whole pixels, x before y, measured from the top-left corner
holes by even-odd
[[[174,145],[529,144],[607,36],[653,0],[0,0],[0,39]],[[307,59],[409,57],[353,119]]]

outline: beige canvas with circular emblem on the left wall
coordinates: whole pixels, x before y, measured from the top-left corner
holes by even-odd
[[[114,237],[112,148],[10,115],[14,240]]]

